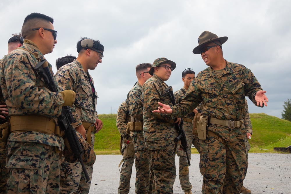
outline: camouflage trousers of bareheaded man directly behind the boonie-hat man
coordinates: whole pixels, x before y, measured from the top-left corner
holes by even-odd
[[[132,133],[131,133],[132,135]],[[150,161],[148,155],[148,149],[145,145],[142,131],[136,132],[136,136],[132,136],[134,143],[134,161],[136,169],[135,177],[135,193],[147,194],[151,191],[150,187]]]

